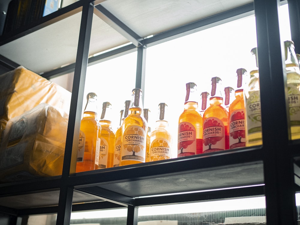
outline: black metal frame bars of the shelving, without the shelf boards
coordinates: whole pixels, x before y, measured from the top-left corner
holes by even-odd
[[[296,51],[300,52],[300,6],[298,0],[288,0],[288,4],[292,40],[295,42]],[[44,77],[51,78],[72,70],[74,71],[73,93],[71,98],[72,110],[70,110],[69,115],[62,176],[37,179],[24,183],[19,182],[16,184],[0,185],[1,196],[43,192],[48,189],[60,190],[58,206],[23,210],[1,207],[0,211],[15,215],[16,217],[34,213],[58,212],[57,224],[69,224],[72,210],[84,210],[94,207],[118,208],[127,206],[127,224],[137,224],[137,211],[139,206],[265,195],[268,224],[296,224],[294,160],[300,157],[300,151],[298,150],[300,144],[297,141],[288,141],[290,136],[288,129],[289,121],[288,119],[282,119],[287,118],[288,106],[285,97],[286,74],[283,70],[283,40],[279,38],[279,5],[279,0],[254,0],[254,3],[201,19],[151,38],[143,39],[126,27],[121,21],[117,20],[110,12],[101,6],[101,3],[96,4],[91,0],[81,0],[45,16],[30,25],[30,27],[24,27],[12,34],[1,36],[0,45],[27,35],[29,32],[41,29],[78,10],[82,11],[76,63],[43,74]],[[101,16],[101,18],[108,23],[111,23],[113,27],[127,37],[132,44],[88,58],[92,15],[95,8],[98,10],[98,16]],[[76,140],[79,136],[80,112],[82,109],[81,100],[83,99],[85,73],[88,65],[128,52],[137,51],[136,87],[143,89],[145,85],[145,55],[147,47],[223,22],[241,18],[245,15],[253,14],[254,11],[256,16],[261,85],[263,147],[241,149],[239,151],[224,151],[219,153],[219,155],[208,154],[160,163],[128,166],[120,169],[107,169],[100,173],[97,171],[98,173],[88,172],[75,174],[76,151],[72,152],[72,149],[76,149],[78,144]],[[9,68],[17,66],[16,62],[12,62],[3,57],[1,57],[0,60],[1,64],[6,64]],[[217,160],[214,162],[214,159]],[[195,169],[210,170],[214,168],[214,166],[211,165],[212,163],[217,167],[222,167],[238,163],[253,163],[256,161],[259,162],[258,165],[263,166],[263,182],[259,183],[259,186],[142,197],[126,196],[122,193],[103,188],[105,185],[131,181],[143,182],[149,178],[155,179],[161,176],[167,176],[168,174],[178,173],[179,170],[176,169],[177,166],[178,168],[184,168],[187,173]],[[155,168],[156,171],[153,171],[153,168]],[[128,171],[133,172],[135,175],[129,175],[127,173]],[[164,171],[164,174],[160,174],[159,171]],[[104,178],[102,179],[101,173],[104,174]],[[20,184],[23,184],[22,190],[19,188]],[[106,203],[86,203],[72,206],[74,190],[101,196],[107,201]],[[106,206],[104,206],[105,204]]]

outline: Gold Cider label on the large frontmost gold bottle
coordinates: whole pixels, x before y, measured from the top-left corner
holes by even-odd
[[[145,162],[147,137],[144,129],[137,125],[128,126],[122,137],[122,161]]]

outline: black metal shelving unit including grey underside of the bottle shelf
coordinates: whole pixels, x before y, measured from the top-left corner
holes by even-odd
[[[108,0],[110,1],[110,0]],[[56,224],[69,224],[71,211],[128,208],[127,224],[137,224],[140,206],[177,202],[265,196],[267,223],[297,224],[295,192],[300,184],[300,141],[289,141],[286,74],[279,36],[279,0],[254,0],[225,12],[142,38],[102,3],[80,0],[29,26],[0,36],[1,46],[80,12],[76,61],[41,73],[46,78],[74,71],[64,167],[61,176],[0,184],[0,216],[17,224],[18,217],[58,213]],[[288,0],[292,40],[300,52],[300,3]],[[144,87],[146,48],[178,36],[241,18],[255,12],[261,85],[263,146],[226,150],[100,171],[75,173],[77,140],[86,68],[137,51],[136,87]],[[93,15],[99,16],[131,44],[89,58]],[[13,69],[18,61],[1,54],[0,65]],[[76,110],[75,110],[76,109]],[[85,202],[85,203],[84,203]]]

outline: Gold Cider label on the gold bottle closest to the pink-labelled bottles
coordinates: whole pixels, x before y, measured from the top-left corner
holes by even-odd
[[[170,143],[165,138],[156,138],[150,145],[150,161],[170,159],[172,156]]]

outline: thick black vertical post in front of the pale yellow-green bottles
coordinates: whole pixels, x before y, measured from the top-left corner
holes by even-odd
[[[262,114],[267,223],[296,224],[284,44],[279,34],[279,0],[254,0]],[[279,119],[280,118],[280,119]]]

